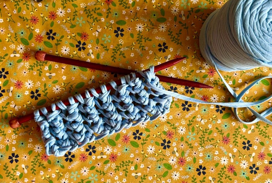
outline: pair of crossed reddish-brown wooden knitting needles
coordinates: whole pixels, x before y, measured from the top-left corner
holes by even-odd
[[[130,74],[131,72],[136,72],[136,71],[129,70],[129,69],[117,68],[117,67],[113,67],[113,66],[100,65],[100,64],[91,63],[91,62],[85,62],[85,61],[74,60],[74,59],[70,59],[70,58],[48,55],[44,51],[37,51],[35,54],[35,58],[36,58],[36,60],[39,60],[39,61],[49,60],[49,61],[53,61],[53,62],[70,64],[70,65],[75,65],[75,66],[79,66],[79,67],[86,67],[86,68],[91,68],[91,69],[96,69],[96,70],[107,71],[107,72],[113,72],[113,73],[117,73],[117,74],[126,74],[127,75],[127,74]],[[166,68],[168,68],[172,65],[175,65],[185,59],[186,59],[186,57],[177,58],[174,60],[164,62],[159,65],[156,65],[154,67],[154,72],[158,72],[162,69],[166,69]],[[160,79],[160,81],[163,81],[163,82],[180,84],[180,85],[185,85],[185,86],[190,86],[190,87],[198,87],[198,88],[213,88],[211,86],[208,86],[208,85],[205,85],[202,83],[188,81],[188,80],[184,80],[184,79],[170,78],[170,77],[160,76],[160,75],[156,75],[156,76]],[[136,77],[142,78],[142,75],[139,73],[136,73]],[[115,81],[115,83],[117,84],[117,86],[119,86],[119,85],[121,85],[121,80],[119,79],[119,80]],[[108,84],[106,84],[106,88],[107,88],[107,90],[110,90],[110,89],[112,89],[112,86],[108,83]],[[95,90],[97,93],[102,92],[100,87],[96,88]],[[90,95],[92,96],[91,93],[90,93]],[[85,94],[83,94],[82,97],[85,98]],[[74,98],[75,102],[78,102],[78,100],[75,97],[73,97],[73,98]],[[63,104],[70,105],[69,100],[64,100]],[[46,107],[46,109],[48,112],[52,112],[51,106]],[[59,108],[56,106],[56,110],[58,110],[58,109]],[[43,115],[43,114],[40,112],[40,115]],[[25,123],[25,122],[32,120],[32,119],[34,119],[33,113],[22,116],[20,118],[13,118],[9,121],[9,124],[12,128],[17,128],[17,127],[21,126],[22,123]]]

